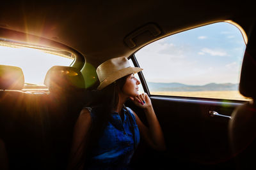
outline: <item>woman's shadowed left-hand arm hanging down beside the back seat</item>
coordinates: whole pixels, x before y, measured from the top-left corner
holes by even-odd
[[[83,154],[86,145],[88,144],[88,136],[90,134],[90,127],[92,127],[92,117],[87,109],[83,109],[77,118],[76,125],[74,126],[74,135],[72,146],[70,150],[70,159],[68,162],[68,169],[74,169],[79,163],[78,169],[83,169],[84,162]],[[77,169],[77,168],[76,168]]]

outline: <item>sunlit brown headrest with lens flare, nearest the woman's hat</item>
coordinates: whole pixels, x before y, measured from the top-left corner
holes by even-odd
[[[74,92],[84,89],[84,78],[75,67],[52,66],[45,76],[44,84],[49,92]]]

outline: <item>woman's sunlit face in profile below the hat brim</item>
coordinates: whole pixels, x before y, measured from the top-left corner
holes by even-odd
[[[134,74],[130,74],[123,86],[122,92],[127,97],[136,97],[139,95],[140,80],[134,77]]]

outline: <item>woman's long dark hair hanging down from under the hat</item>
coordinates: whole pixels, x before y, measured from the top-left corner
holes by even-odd
[[[92,96],[90,98],[92,100],[90,104],[86,104],[86,106],[93,108],[95,118],[93,119],[92,127],[90,129],[89,138],[86,136],[87,139],[83,140],[87,141],[87,146],[84,148],[83,156],[76,167],[81,166],[83,162],[85,162],[84,166],[86,166],[86,164],[90,164],[92,148],[97,146],[97,140],[99,140],[100,135],[106,128],[106,125],[108,125],[108,122],[111,121],[111,114],[118,104],[118,93],[123,89],[125,81],[129,76],[130,74],[119,78],[102,90],[94,90],[92,92]]]

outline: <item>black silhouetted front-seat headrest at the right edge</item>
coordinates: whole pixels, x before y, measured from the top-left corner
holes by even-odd
[[[256,99],[256,27],[248,38],[248,44],[244,53],[239,91],[245,97]]]

